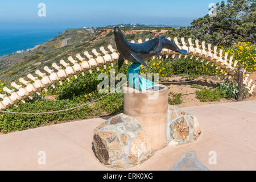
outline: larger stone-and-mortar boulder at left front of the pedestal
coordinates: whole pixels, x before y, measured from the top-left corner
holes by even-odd
[[[118,114],[94,130],[93,147],[101,163],[113,168],[135,166],[151,154],[150,139],[136,118]]]

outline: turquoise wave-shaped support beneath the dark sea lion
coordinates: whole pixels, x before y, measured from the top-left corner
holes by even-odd
[[[139,76],[140,68],[141,63],[131,64],[127,71],[127,78],[129,80],[130,87],[142,91],[144,89],[150,88],[151,86],[154,86],[155,83]]]

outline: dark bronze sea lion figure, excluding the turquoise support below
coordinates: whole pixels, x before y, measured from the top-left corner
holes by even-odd
[[[180,49],[174,42],[164,38],[163,36],[159,36],[143,43],[135,44],[127,41],[118,27],[114,28],[114,36],[115,44],[119,52],[118,69],[122,67],[124,59],[133,63],[138,62],[148,67],[144,61],[149,60],[152,56],[162,56],[161,51],[163,48],[171,49],[172,51],[180,52],[186,55],[191,55],[186,50]]]

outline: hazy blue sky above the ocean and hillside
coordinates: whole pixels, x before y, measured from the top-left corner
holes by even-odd
[[[0,29],[79,28],[119,23],[189,26],[208,14],[209,3],[220,0],[1,0]],[[38,4],[46,4],[46,17]]]

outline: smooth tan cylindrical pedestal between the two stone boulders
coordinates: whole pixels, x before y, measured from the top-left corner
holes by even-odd
[[[150,138],[152,151],[166,144],[168,88],[138,91],[123,87],[123,112],[137,118],[146,136]]]

